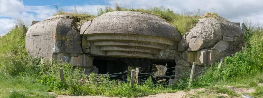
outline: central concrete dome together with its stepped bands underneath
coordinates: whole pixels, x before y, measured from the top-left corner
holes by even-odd
[[[80,28],[91,55],[174,59],[161,52],[176,46],[180,33],[158,16],[136,11],[113,11],[85,22]],[[87,44],[89,43],[89,44]],[[169,54],[170,56],[167,56]]]

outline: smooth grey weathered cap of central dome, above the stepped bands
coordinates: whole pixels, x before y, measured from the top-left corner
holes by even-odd
[[[138,34],[180,40],[175,26],[156,15],[137,11],[113,11],[95,18],[84,34],[98,33]]]

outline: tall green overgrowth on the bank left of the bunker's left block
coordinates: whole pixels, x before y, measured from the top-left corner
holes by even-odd
[[[12,76],[36,72],[39,59],[27,55],[22,25],[0,37],[0,71]]]

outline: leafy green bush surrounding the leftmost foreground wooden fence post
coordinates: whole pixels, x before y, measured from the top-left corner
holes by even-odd
[[[67,62],[60,64],[54,59],[52,62],[45,61],[38,67],[40,70],[38,75],[41,77],[38,82],[48,85],[51,91],[76,88],[80,85],[79,80],[87,77],[80,68],[73,69],[71,64]],[[63,69],[64,83],[60,80],[59,68]]]

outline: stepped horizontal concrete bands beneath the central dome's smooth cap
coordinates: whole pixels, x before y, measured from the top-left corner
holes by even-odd
[[[134,34],[84,34],[92,49],[104,51],[105,56],[152,58],[173,45],[168,38]],[[94,51],[94,50],[91,50]],[[92,52],[93,53],[93,52]]]

